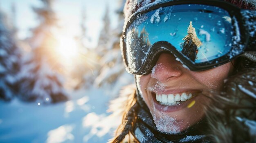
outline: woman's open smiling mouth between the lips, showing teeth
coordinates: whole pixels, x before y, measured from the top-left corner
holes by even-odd
[[[158,94],[155,92],[152,92],[152,93],[155,100],[159,104],[164,106],[176,106],[198,95],[198,93],[190,93],[190,92],[182,92],[182,93],[175,93],[175,94],[168,94],[168,95]]]

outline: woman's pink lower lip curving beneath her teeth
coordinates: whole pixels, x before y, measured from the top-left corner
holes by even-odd
[[[174,111],[181,110],[183,108],[187,108],[189,103],[191,103],[191,101],[193,101],[193,100],[196,100],[196,98],[198,98],[199,96],[201,96],[201,95],[196,95],[195,97],[193,97],[193,98],[191,98],[191,99],[189,99],[187,101],[184,101],[184,102],[182,102],[180,104],[177,104],[175,106],[164,106],[164,105],[161,105],[158,101],[156,101],[155,98],[153,98],[153,100],[154,100],[155,108],[157,110],[162,111],[162,112],[174,112]]]

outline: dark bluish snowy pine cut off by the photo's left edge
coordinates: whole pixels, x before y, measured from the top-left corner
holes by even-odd
[[[16,75],[20,69],[20,50],[5,21],[4,14],[0,11],[0,99],[9,101],[17,91]]]

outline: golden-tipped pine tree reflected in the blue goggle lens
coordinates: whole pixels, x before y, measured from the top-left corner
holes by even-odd
[[[202,42],[198,39],[192,22],[189,23],[187,33],[188,34],[182,39],[185,41],[181,45],[181,53],[195,62],[196,56],[198,54],[198,47],[202,46]]]

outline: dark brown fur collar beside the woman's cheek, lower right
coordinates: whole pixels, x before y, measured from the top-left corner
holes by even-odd
[[[256,143],[256,69],[230,77],[207,107],[211,139],[216,143]]]

